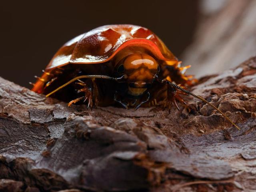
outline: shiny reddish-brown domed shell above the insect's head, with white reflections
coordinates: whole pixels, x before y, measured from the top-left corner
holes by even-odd
[[[160,60],[177,61],[162,40],[147,28],[135,25],[106,25],[68,41],[54,55],[46,70],[69,63],[106,62],[127,46],[146,48]]]

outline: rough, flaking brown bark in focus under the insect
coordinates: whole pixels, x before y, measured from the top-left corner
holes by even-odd
[[[0,78],[0,191],[256,190],[256,58],[191,88],[190,113],[86,110]]]

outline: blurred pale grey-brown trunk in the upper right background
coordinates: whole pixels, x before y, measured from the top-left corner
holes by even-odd
[[[234,68],[256,54],[256,1],[203,0],[194,42],[182,54],[197,77]],[[220,4],[214,12],[210,8]],[[208,6],[204,6],[208,4]]]

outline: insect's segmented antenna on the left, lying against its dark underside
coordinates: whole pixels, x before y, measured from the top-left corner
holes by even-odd
[[[106,76],[106,75],[81,75],[81,76],[77,76],[77,77],[73,78],[72,80],[66,82],[66,83],[63,84],[62,86],[56,88],[56,89],[53,90],[52,92],[48,93],[48,94],[46,95],[46,97],[48,97],[48,96],[54,94],[55,92],[57,92],[58,90],[60,90],[60,89],[62,89],[62,88],[64,88],[64,87],[66,87],[66,86],[69,85],[70,83],[72,83],[72,82],[74,82],[74,81],[76,81],[76,80],[78,80],[78,79],[84,79],[84,78],[108,79],[108,80],[118,81],[118,80],[124,78],[124,76],[121,76],[121,77],[119,77],[119,78],[110,77],[110,76]]]

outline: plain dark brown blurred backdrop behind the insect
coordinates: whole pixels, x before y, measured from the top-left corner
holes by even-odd
[[[179,57],[192,42],[198,0],[2,1],[0,76],[30,88],[68,40],[105,24],[155,32]]]

